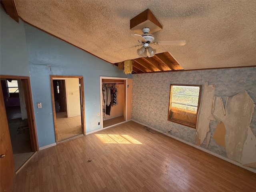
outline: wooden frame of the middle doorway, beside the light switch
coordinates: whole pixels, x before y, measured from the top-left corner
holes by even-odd
[[[59,79],[65,79],[65,78],[81,78],[80,87],[82,90],[82,123],[83,126],[83,135],[85,135],[85,109],[84,109],[84,78],[83,76],[63,76],[63,75],[50,75],[50,81],[51,81],[51,92],[52,92],[52,110],[53,110],[53,117],[54,117],[54,130],[55,130],[55,140],[56,144],[58,144],[58,131],[57,131],[57,120],[56,120],[56,111],[55,111],[55,100],[54,100],[54,88],[53,88],[53,80],[56,80],[56,78]]]

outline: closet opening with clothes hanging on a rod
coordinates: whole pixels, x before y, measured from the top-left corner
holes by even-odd
[[[100,77],[101,128],[127,120],[127,78]]]

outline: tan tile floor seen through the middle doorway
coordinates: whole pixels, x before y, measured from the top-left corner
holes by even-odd
[[[66,112],[56,112],[58,141],[82,134],[81,116],[67,118]]]

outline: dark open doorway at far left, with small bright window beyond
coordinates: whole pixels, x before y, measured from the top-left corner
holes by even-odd
[[[28,77],[1,76],[1,87],[17,171],[38,151],[30,81]]]

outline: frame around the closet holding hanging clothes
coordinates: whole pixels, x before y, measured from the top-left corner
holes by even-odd
[[[125,110],[124,110],[124,112],[125,112],[125,114],[124,114],[124,116],[125,116],[125,121],[123,121],[123,122],[121,122],[121,123],[118,123],[118,124],[122,124],[122,123],[124,123],[124,122],[127,122],[127,84],[128,84],[128,78],[125,78],[125,77],[105,77],[105,76],[100,76],[100,122],[101,122],[101,130],[103,130],[103,129],[107,129],[107,128],[110,128],[110,127],[112,127],[112,126],[114,126],[114,125],[111,125],[111,126],[108,126],[108,127],[105,127],[105,128],[103,128],[103,116],[102,116],[102,110],[103,110],[103,108],[102,108],[102,105],[103,105],[103,99],[102,99],[102,80],[103,79],[112,79],[112,80],[124,80],[124,86],[125,86],[125,105],[124,105],[124,107],[125,107]],[[117,124],[115,124],[115,125],[117,125]]]

